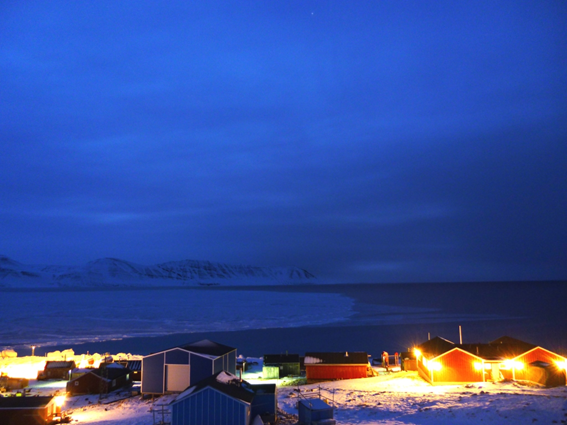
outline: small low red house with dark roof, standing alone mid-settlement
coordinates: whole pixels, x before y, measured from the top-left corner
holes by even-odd
[[[305,373],[308,380],[366,378],[368,355],[365,352],[306,353]]]

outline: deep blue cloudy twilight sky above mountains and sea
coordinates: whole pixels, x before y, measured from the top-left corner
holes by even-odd
[[[0,4],[0,253],[567,278],[567,3]]]

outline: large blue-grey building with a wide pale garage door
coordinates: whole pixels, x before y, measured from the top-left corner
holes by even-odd
[[[236,374],[236,348],[208,339],[152,353],[142,358],[142,393],[181,392],[227,371]]]

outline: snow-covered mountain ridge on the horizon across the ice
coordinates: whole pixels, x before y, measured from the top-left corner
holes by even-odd
[[[0,287],[96,287],[186,285],[279,285],[315,283],[297,267],[255,267],[210,261],[170,261],[145,266],[102,258],[84,266],[22,264],[0,255]]]

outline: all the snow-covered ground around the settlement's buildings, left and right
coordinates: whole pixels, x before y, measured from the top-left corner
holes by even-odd
[[[257,376],[261,363],[252,370]],[[247,376],[245,376],[247,378]],[[31,381],[31,394],[61,394],[65,382]],[[152,425],[175,396],[143,399],[139,388],[99,396],[76,396],[64,409],[76,424]],[[543,389],[519,383],[435,386],[415,372],[278,388],[278,406],[297,414],[300,397],[321,394],[344,425],[559,424],[567,423],[567,387]],[[166,416],[167,419],[167,416]]]

